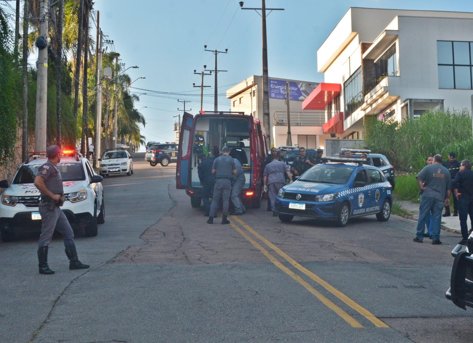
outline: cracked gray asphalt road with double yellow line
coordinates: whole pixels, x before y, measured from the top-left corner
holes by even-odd
[[[89,270],[68,269],[61,237],[54,275],[35,237],[0,243],[0,342],[472,342],[473,310],[444,296],[459,235],[419,244],[397,216],[338,228],[265,208],[209,225],[174,164],[134,169],[104,180],[106,222],[76,238]]]

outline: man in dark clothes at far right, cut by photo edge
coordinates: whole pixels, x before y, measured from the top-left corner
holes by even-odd
[[[473,221],[473,171],[472,163],[469,160],[463,160],[460,163],[460,171],[456,173],[453,179],[453,197],[458,200],[458,213],[460,214],[460,228],[462,230],[462,240],[458,244],[466,245],[468,243],[468,225],[466,220],[468,214]]]

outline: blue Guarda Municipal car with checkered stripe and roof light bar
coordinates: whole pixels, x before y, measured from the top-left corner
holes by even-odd
[[[331,157],[280,189],[275,208],[282,222],[295,215],[336,221],[345,226],[351,217],[376,214],[385,222],[391,215],[391,184],[364,159]]]

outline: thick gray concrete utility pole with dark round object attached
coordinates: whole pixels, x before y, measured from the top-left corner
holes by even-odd
[[[48,13],[49,1],[39,2],[39,37],[36,40],[38,51],[36,86],[36,125],[35,151],[46,151],[46,111],[48,92]]]

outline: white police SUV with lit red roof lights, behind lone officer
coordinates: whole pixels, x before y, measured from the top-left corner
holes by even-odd
[[[32,153],[5,188],[0,203],[0,230],[4,242],[15,238],[15,233],[41,232],[38,210],[40,191],[34,182],[38,168],[47,161],[45,153]],[[61,207],[74,230],[84,229],[86,236],[97,235],[97,224],[105,223],[103,178],[94,172],[87,158],[75,151],[64,151],[57,168],[61,172],[66,201]]]

